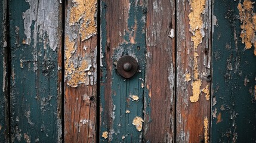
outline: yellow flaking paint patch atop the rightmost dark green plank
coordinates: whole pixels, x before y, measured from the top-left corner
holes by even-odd
[[[245,49],[251,49],[254,45],[254,55],[256,55],[256,14],[254,13],[254,2],[251,0],[243,1],[243,4],[238,4],[239,17],[242,29],[240,38],[242,43],[245,43]]]

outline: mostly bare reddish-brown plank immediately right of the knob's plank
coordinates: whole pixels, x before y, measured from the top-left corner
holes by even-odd
[[[144,142],[175,142],[175,1],[147,2]]]

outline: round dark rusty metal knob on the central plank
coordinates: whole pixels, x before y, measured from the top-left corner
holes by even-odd
[[[121,74],[122,77],[130,78],[132,77],[136,71],[138,70],[138,63],[134,57],[130,55],[124,55],[118,60],[118,73]]]

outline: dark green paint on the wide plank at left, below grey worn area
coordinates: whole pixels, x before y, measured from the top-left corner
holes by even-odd
[[[39,1],[32,3],[36,2]],[[58,5],[58,1],[55,4]],[[61,130],[57,121],[57,51],[59,49],[53,51],[50,48],[46,33],[42,37],[38,36],[39,27],[36,26],[36,20],[32,21],[30,27],[30,45],[23,44],[23,39],[26,39],[23,13],[29,8],[29,3],[24,0],[9,1],[12,60],[11,141],[57,142],[58,130]],[[38,11],[30,12],[33,13]],[[51,20],[46,17],[39,18]]]

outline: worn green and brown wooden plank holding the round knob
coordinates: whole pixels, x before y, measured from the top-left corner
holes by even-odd
[[[146,50],[144,1],[101,1],[100,142],[141,142]],[[122,55],[139,69],[130,79],[116,70]]]

